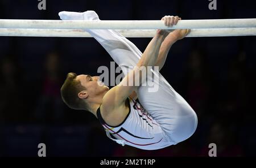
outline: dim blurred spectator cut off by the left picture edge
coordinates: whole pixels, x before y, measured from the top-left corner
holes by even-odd
[[[22,72],[13,55],[0,62],[0,120],[4,123],[26,122]]]

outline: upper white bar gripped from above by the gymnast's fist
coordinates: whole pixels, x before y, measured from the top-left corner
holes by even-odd
[[[163,20],[19,20],[0,19],[0,28],[35,29],[199,29],[256,27],[256,19],[180,20],[173,27]]]

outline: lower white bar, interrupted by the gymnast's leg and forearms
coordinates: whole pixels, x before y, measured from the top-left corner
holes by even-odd
[[[155,30],[117,30],[125,37],[154,37]],[[173,30],[171,30],[173,31]],[[171,32],[170,31],[170,32]],[[92,37],[81,29],[0,29],[0,36]],[[191,29],[187,37],[256,36],[256,28]]]

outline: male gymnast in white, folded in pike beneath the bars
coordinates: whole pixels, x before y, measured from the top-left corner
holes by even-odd
[[[94,11],[67,12],[59,16],[63,20],[100,20]],[[168,27],[176,25],[178,16],[164,16]],[[190,32],[176,29],[173,32],[157,30],[156,35],[142,54],[141,51],[117,31],[109,29],[85,29],[108,51],[122,68],[121,83],[109,89],[98,76],[69,73],[61,87],[61,97],[72,109],[90,111],[105,128],[106,135],[122,145],[154,150],[175,145],[188,139],[197,127],[197,116],[191,106],[159,73],[171,46]],[[141,67],[159,67],[154,72],[155,92],[149,85],[142,85]],[[133,68],[131,68],[133,67]],[[141,85],[129,84],[129,79],[139,80]],[[152,76],[148,75],[147,80]],[[139,100],[135,101],[135,100]]]

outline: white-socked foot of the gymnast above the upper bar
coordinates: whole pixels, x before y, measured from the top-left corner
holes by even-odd
[[[68,12],[61,11],[59,12],[61,20],[100,20],[98,15],[94,11],[85,11],[85,12]]]

